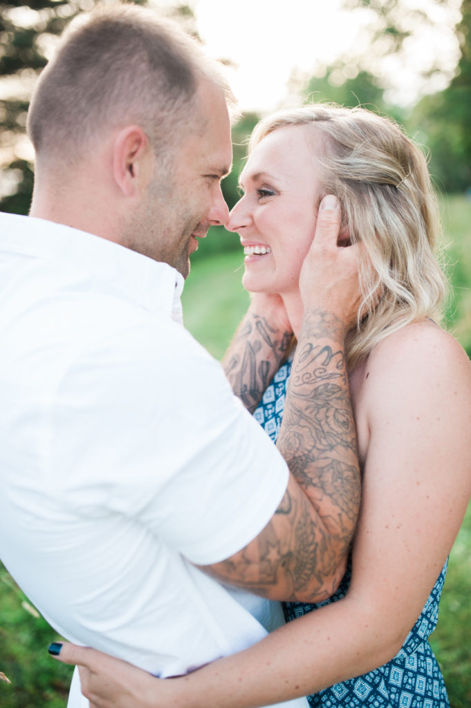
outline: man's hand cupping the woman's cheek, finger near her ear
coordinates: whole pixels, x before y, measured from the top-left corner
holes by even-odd
[[[356,323],[361,307],[358,268],[363,245],[339,246],[340,224],[339,202],[327,195],[319,207],[316,234],[302,264],[300,292],[305,309],[329,313],[346,333]]]

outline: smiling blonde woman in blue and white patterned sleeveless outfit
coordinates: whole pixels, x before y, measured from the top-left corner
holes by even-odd
[[[89,667],[82,683],[100,708],[242,708],[300,695],[326,708],[446,707],[427,637],[471,493],[471,367],[436,324],[445,285],[426,161],[390,120],[309,105],[256,127],[241,185],[228,228],[241,237],[244,286],[256,294],[246,317],[297,335],[300,267],[326,194],[341,204],[341,243],[361,241],[373,263],[346,349],[363,466],[351,563],[332,598],[288,603],[295,622],[183,678],[161,681],[93,650],[60,658]],[[256,350],[249,329],[227,358],[248,406],[260,389],[237,365],[244,348]],[[273,438],[289,374],[288,358],[255,412]]]

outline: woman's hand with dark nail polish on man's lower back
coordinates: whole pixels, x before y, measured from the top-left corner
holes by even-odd
[[[177,688],[171,680],[159,680],[126,661],[68,641],[52,644],[50,653],[79,668],[81,692],[90,708],[168,708],[171,689]]]

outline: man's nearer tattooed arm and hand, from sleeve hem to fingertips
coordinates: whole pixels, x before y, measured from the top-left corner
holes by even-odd
[[[277,442],[290,468],[288,489],[256,539],[229,559],[203,566],[221,581],[278,600],[319,601],[332,593],[360,503],[344,357],[360,304],[358,249],[336,245],[339,224],[338,206],[319,212],[300,281],[305,317]]]

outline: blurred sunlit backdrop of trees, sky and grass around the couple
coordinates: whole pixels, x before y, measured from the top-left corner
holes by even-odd
[[[95,0],[0,0],[0,209],[28,213],[33,150],[28,100],[67,23]],[[471,0],[137,0],[197,35],[225,64],[242,118],[231,206],[246,137],[268,111],[305,101],[392,115],[429,154],[440,193],[453,297],[446,326],[471,356]],[[186,326],[216,357],[246,308],[237,236],[216,228],[192,256]],[[0,489],[1,493],[1,489]],[[432,645],[452,708],[471,706],[471,508],[450,556]],[[51,579],[53,582],[53,578]],[[413,581],[413,579],[412,579]],[[71,668],[53,662],[55,634],[0,564],[1,708],[64,708]],[[6,683],[5,677],[11,683]]]

